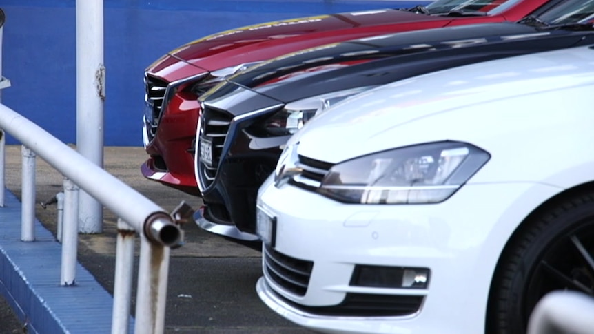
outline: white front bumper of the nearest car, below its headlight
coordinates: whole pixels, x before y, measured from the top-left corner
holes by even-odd
[[[533,183],[465,185],[436,205],[344,205],[291,185],[277,189],[269,179],[258,205],[276,218],[276,236],[274,249],[263,248],[258,295],[279,315],[316,331],[484,333],[491,278],[504,245],[559,190]],[[285,259],[291,265],[311,262],[305,291],[296,293],[275,272]],[[356,266],[428,268],[429,284],[358,286],[352,283]],[[340,311],[347,295],[393,298],[396,306],[411,296],[422,301],[418,309],[377,317],[364,308]]]

